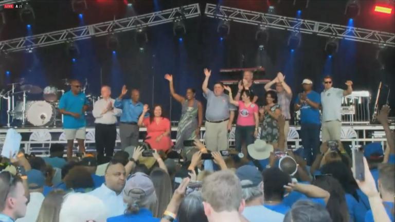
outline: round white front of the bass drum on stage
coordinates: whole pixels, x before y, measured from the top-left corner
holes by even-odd
[[[26,119],[33,126],[43,126],[51,122],[54,108],[46,101],[35,101],[26,109]]]

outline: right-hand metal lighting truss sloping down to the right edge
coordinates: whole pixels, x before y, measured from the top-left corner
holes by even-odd
[[[395,33],[302,20],[224,6],[218,7],[213,4],[206,5],[205,15],[233,22],[395,47]]]

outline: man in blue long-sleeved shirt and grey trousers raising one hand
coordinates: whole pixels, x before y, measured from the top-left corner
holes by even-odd
[[[114,107],[122,109],[119,123],[119,137],[121,138],[122,150],[130,145],[137,146],[139,133],[137,122],[144,106],[138,101],[140,99],[140,91],[138,89],[132,89],[131,99],[122,99],[127,93],[128,89],[123,85],[121,95],[114,102]]]

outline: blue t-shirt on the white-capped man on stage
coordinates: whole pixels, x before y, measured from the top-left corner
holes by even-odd
[[[310,91],[307,98],[312,102],[321,104],[321,96],[316,91]],[[296,97],[295,103],[299,103],[299,96]],[[321,124],[319,110],[311,107],[307,103],[300,106],[300,123]]]

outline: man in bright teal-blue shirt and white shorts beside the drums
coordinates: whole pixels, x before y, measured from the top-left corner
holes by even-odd
[[[78,141],[79,152],[85,152],[85,111],[88,108],[85,94],[81,92],[78,80],[70,81],[70,90],[60,98],[59,112],[64,115],[63,128],[67,140],[67,158],[73,156],[74,139]]]

